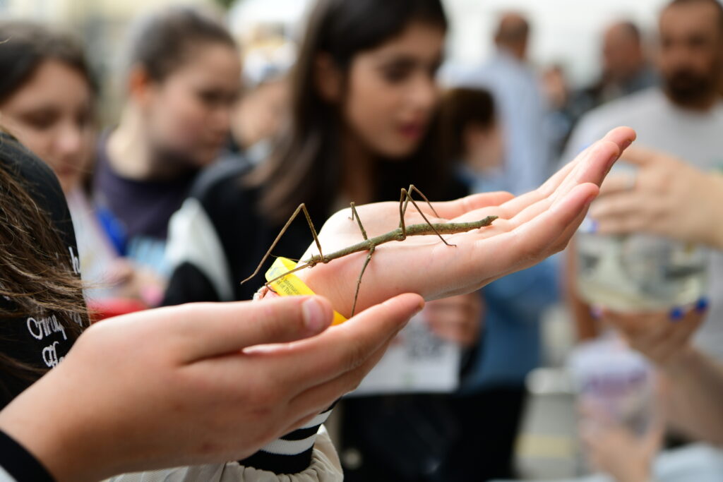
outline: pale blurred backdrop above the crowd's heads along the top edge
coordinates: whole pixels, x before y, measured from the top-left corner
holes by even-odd
[[[276,30],[290,38],[300,34],[309,0],[0,0],[0,16],[8,19],[40,20],[67,25],[82,35],[87,55],[103,84],[103,118],[113,119],[119,100],[118,78],[121,40],[137,16],[163,5],[202,5],[228,12],[228,26],[239,40],[252,38],[259,29]],[[529,58],[536,66],[560,65],[570,87],[582,87],[600,73],[602,32],[611,22],[631,20],[643,33],[655,27],[664,0],[445,0],[451,20],[447,60],[455,64],[478,64],[494,50],[494,35],[500,12],[515,10],[529,16]]]

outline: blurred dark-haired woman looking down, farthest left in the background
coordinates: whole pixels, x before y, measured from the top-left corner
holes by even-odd
[[[94,311],[142,303],[147,278],[119,258],[87,190],[96,138],[93,74],[72,36],[30,22],[0,24],[2,124],[60,180],[78,243],[86,296]],[[137,308],[136,308],[137,309]],[[112,311],[112,310],[111,310]]]

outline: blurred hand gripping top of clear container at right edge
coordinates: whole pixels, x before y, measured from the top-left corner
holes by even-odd
[[[602,184],[590,209],[600,233],[645,232],[723,249],[723,176],[637,146],[622,161],[638,170],[613,174]]]

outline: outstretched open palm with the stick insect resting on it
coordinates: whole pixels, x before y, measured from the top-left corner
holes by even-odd
[[[443,244],[437,236],[410,236],[378,246],[361,281],[357,310],[398,293],[419,293],[427,300],[470,293],[562,250],[599,193],[604,177],[635,136],[628,127],[613,129],[538,189],[519,197],[493,192],[435,202],[438,218],[419,202],[432,223],[481,220],[487,215],[499,218],[489,227],[445,236],[455,246]],[[369,237],[398,228],[398,202],[357,206],[356,210]],[[359,226],[350,216],[351,210],[341,210],[325,223],[319,236],[325,252],[361,241]],[[424,223],[411,205],[405,220],[407,224]],[[302,259],[317,253],[315,245],[309,246]],[[296,274],[348,316],[366,256],[366,252],[351,254]]]

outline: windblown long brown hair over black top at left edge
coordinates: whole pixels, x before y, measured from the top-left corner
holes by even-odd
[[[16,155],[31,154],[0,132],[0,156]],[[4,161],[0,162],[0,318],[54,314],[74,340],[87,326],[87,311],[67,242],[48,212],[28,193],[29,186],[12,172],[12,165],[22,159]],[[55,186],[62,199],[57,181]],[[5,379],[30,383],[47,370],[0,353],[0,395],[8,390]]]

